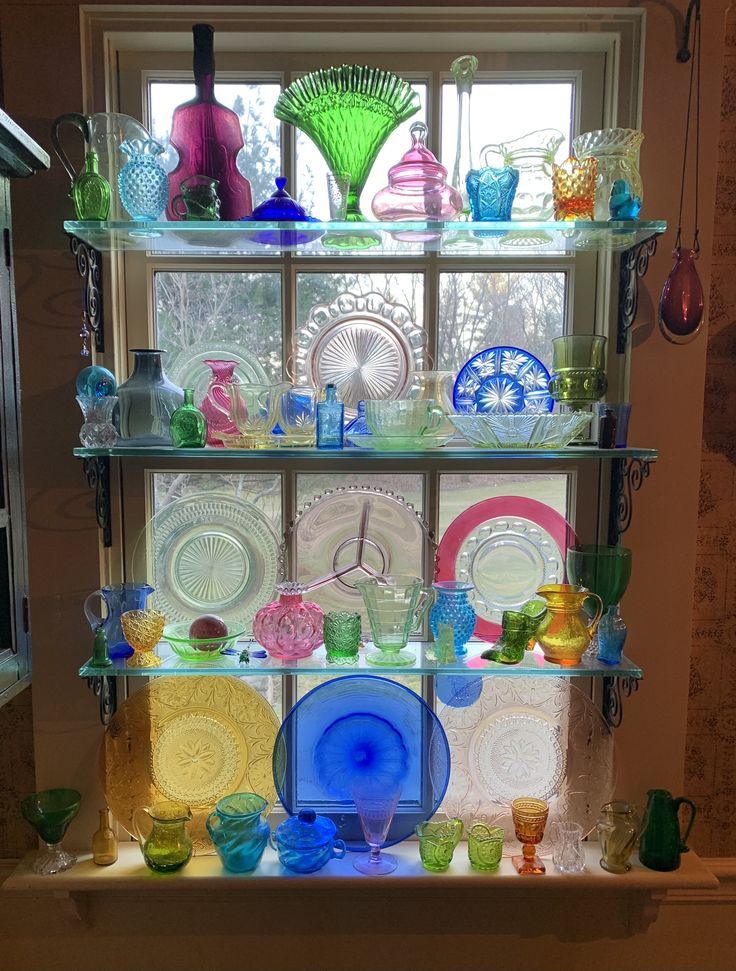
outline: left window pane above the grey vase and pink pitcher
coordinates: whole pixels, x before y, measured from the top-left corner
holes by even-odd
[[[156,346],[165,367],[199,404],[207,358],[238,361],[241,381],[281,380],[281,276],[278,273],[169,273],[154,277]]]

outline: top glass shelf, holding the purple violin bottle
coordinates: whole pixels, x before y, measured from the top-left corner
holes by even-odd
[[[139,250],[181,256],[381,255],[560,256],[619,251],[658,236],[664,220],[615,222],[75,222],[64,231],[101,252]],[[303,242],[298,242],[309,238]]]

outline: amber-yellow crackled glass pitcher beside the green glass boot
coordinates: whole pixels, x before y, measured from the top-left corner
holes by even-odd
[[[548,583],[537,593],[547,605],[547,613],[537,629],[537,641],[542,645],[545,659],[565,667],[579,664],[598,630],[603,601],[597,593],[569,583]],[[586,624],[588,617],[583,603],[587,598],[598,602],[598,610]]]

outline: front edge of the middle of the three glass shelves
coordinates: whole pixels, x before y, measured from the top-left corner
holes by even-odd
[[[343,448],[327,451],[318,448],[174,448],[173,446],[154,446],[148,448],[129,448],[115,446],[114,448],[75,448],[77,458],[181,458],[199,459],[203,462],[228,461],[231,459],[313,459],[323,465],[334,466],[339,462],[365,463],[385,462],[393,459],[412,459],[421,461],[423,458],[457,459],[478,462],[494,461],[528,461],[529,459],[560,459],[578,461],[579,459],[628,459],[638,458],[647,462],[657,459],[659,453],[654,448],[473,448],[467,445],[445,445],[443,448],[428,448],[421,451],[379,452],[367,448]]]

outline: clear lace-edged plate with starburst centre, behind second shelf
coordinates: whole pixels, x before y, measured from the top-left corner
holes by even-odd
[[[379,293],[343,293],[313,307],[296,335],[299,383],[337,385],[345,406],[366,399],[401,398],[411,372],[421,371],[427,334],[407,307]]]

